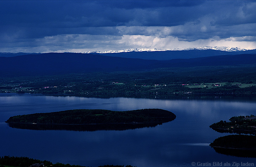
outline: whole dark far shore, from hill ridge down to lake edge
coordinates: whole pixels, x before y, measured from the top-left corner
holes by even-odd
[[[256,55],[143,60],[82,53],[0,57],[0,92],[256,94]]]

